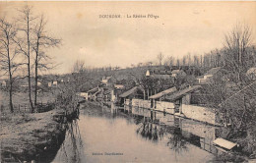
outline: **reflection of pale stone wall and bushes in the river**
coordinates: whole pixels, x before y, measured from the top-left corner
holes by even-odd
[[[216,127],[206,124],[166,115],[142,108],[126,108],[132,110],[134,117],[140,117],[141,125],[137,129],[146,139],[158,141],[167,137],[166,145],[175,153],[188,152],[187,144],[193,144],[213,154],[222,153],[213,145],[216,137]],[[138,123],[137,123],[138,124]]]

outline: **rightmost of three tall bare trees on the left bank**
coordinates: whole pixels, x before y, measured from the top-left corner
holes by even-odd
[[[47,35],[45,26],[46,21],[43,15],[40,16],[38,23],[33,28],[35,35],[33,42],[33,51],[35,52],[34,58],[34,106],[36,106],[37,100],[37,81],[38,81],[38,69],[52,69],[52,65],[49,63],[51,59],[44,53],[45,48],[56,47],[60,43],[60,39],[53,38]],[[47,62],[44,62],[47,61]]]

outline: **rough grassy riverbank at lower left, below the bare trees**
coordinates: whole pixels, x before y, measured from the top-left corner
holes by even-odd
[[[43,159],[43,155],[56,150],[65,136],[64,126],[56,119],[60,115],[64,116],[63,113],[62,110],[54,109],[45,113],[2,117],[1,159],[7,159],[2,161]],[[50,155],[47,154],[47,157]]]

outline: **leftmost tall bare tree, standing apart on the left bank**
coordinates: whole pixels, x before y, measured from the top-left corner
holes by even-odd
[[[0,66],[1,70],[9,76],[9,107],[10,111],[14,112],[13,107],[13,83],[14,73],[18,68],[18,64],[14,62],[17,53],[15,51],[14,37],[17,34],[17,29],[5,21],[0,19]]]

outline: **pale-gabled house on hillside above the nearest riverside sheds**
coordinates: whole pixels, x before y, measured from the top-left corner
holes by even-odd
[[[197,80],[199,83],[208,83],[214,78],[218,78],[223,75],[222,67],[212,68],[204,76],[199,77]]]

